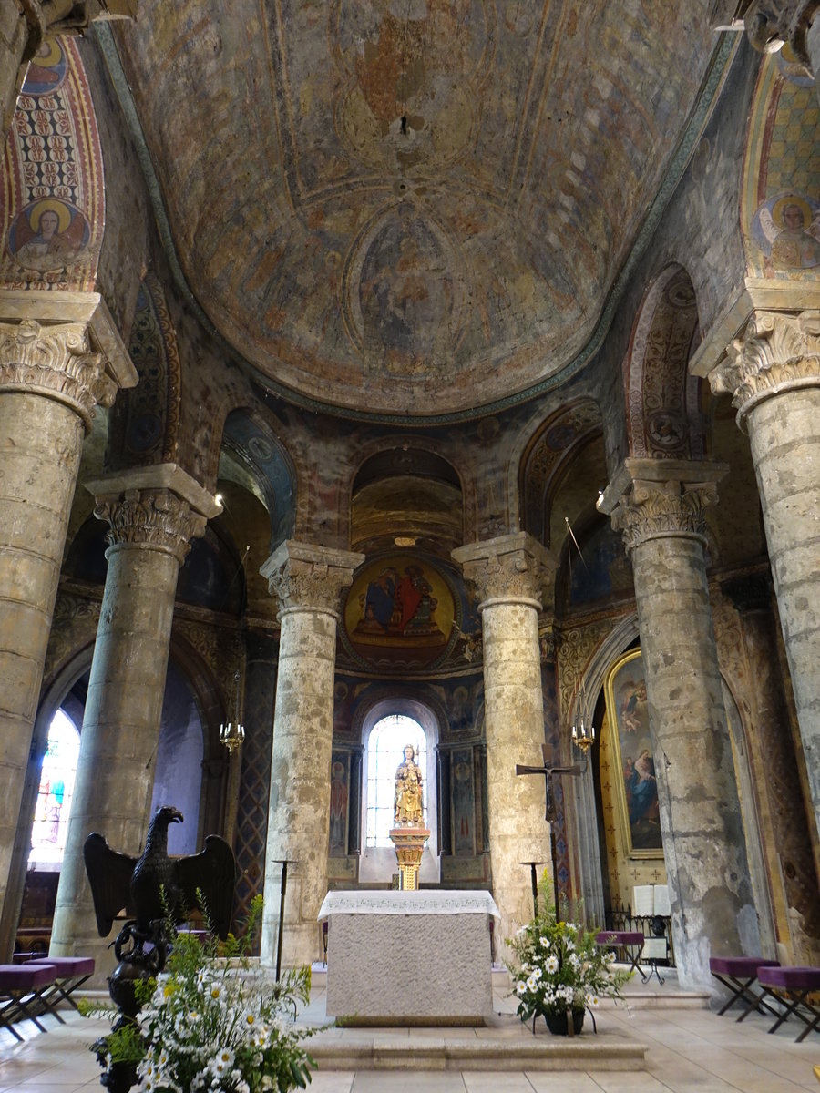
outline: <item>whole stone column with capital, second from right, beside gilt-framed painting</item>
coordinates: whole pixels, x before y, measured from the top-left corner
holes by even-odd
[[[760,952],[703,551],[725,470],[628,459],[598,503],[632,560],[678,977],[706,989],[711,955]]]

